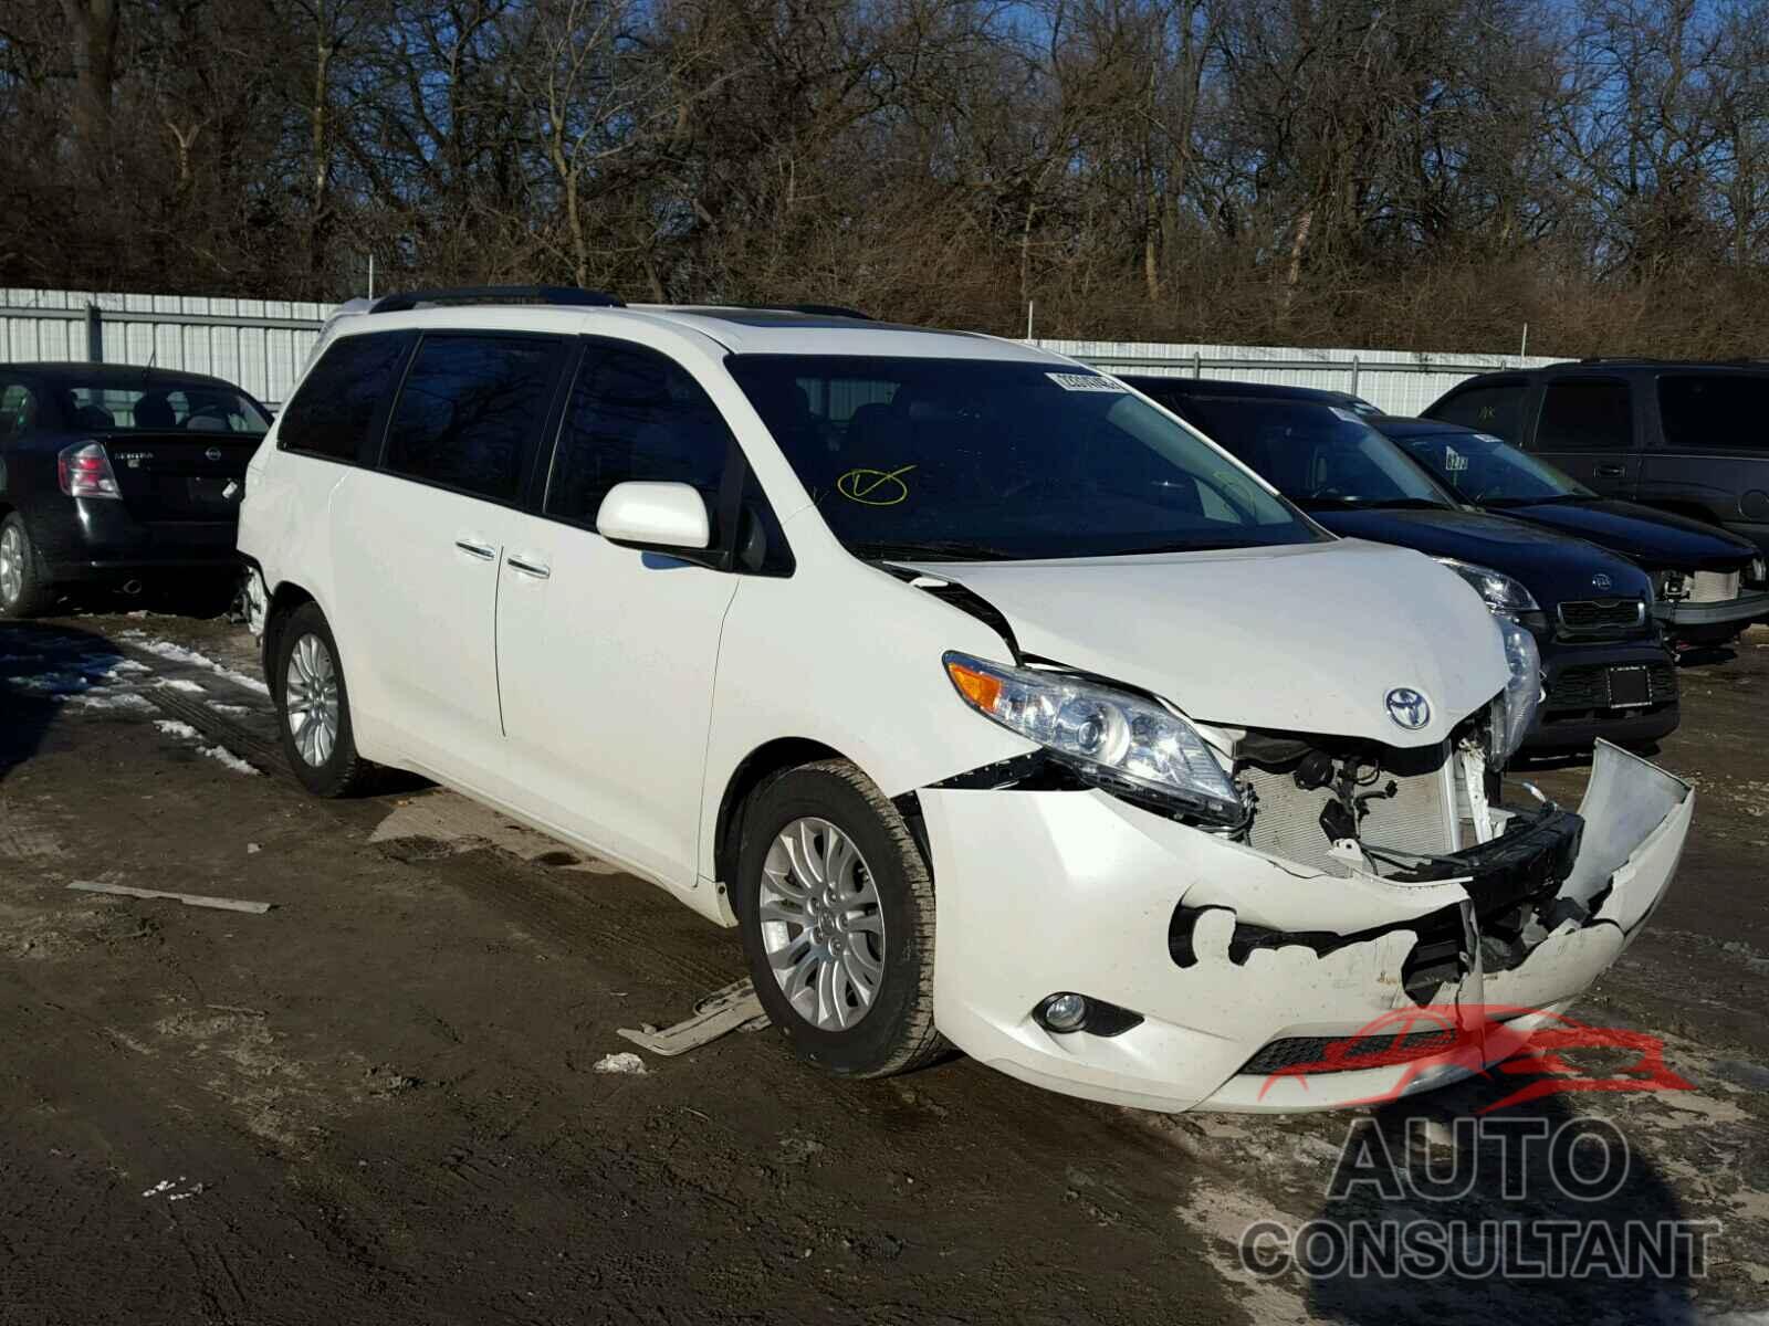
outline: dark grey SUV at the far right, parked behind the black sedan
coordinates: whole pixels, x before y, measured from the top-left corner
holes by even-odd
[[[1481,373],[1424,414],[1497,433],[1603,497],[1769,550],[1769,362],[1581,359]]]

